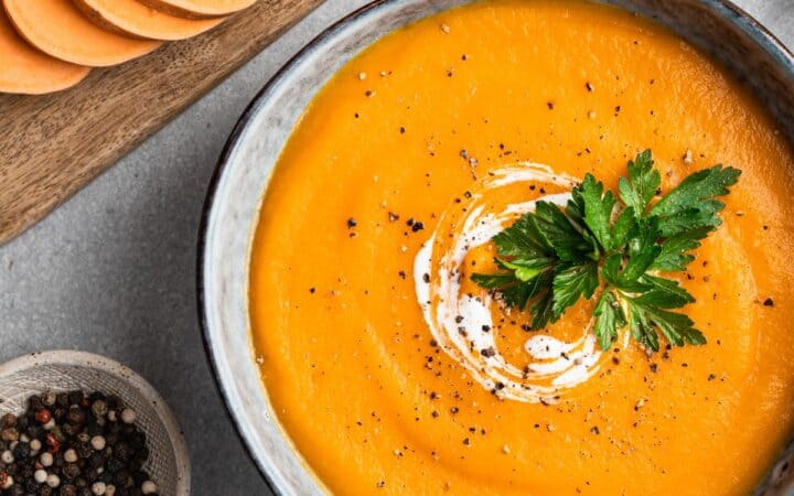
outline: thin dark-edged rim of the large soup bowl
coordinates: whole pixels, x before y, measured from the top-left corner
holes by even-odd
[[[476,1],[476,0],[473,0]],[[600,0],[594,0],[599,2]],[[757,43],[762,51],[766,52],[773,57],[780,68],[785,71],[786,76],[794,80],[794,53],[790,51],[774,34],[772,34],[763,24],[751,17],[740,7],[736,6],[729,0],[701,0],[705,8],[712,10],[716,14],[722,19],[728,20],[734,26],[739,28],[741,32],[748,35],[754,43]],[[215,212],[218,186],[223,181],[224,174],[227,172],[228,164],[234,157],[235,151],[242,143],[242,137],[245,134],[245,130],[250,123],[254,116],[265,106],[267,100],[271,98],[273,94],[278,91],[281,85],[286,84],[293,71],[312,54],[320,52],[322,47],[329,44],[332,40],[337,36],[342,36],[345,32],[354,24],[366,22],[369,18],[375,17],[380,10],[398,4],[400,0],[374,0],[371,3],[351,12],[343,17],[331,26],[321,32],[307,45],[304,45],[296,55],[293,55],[279,71],[265,84],[265,86],[257,93],[254,99],[248,104],[245,111],[238,119],[237,123],[233,128],[229,137],[224,145],[221,157],[215,165],[213,176],[207,187],[207,194],[202,209],[201,223],[198,228],[198,246],[197,246],[197,265],[196,265],[196,287],[197,287],[197,310],[198,321],[202,331],[202,337],[204,348],[206,352],[207,360],[210,362],[215,385],[224,400],[224,406],[228,417],[235,427],[237,435],[243,441],[246,452],[250,460],[255,463],[259,473],[268,485],[268,487],[275,494],[281,494],[279,487],[273,484],[272,474],[270,474],[270,467],[265,457],[257,455],[257,446],[254,445],[251,439],[246,435],[245,419],[236,409],[234,400],[232,399],[230,389],[235,387],[232,382],[229,370],[222,366],[222,357],[217,356],[217,342],[216,330],[212,328],[208,323],[207,315],[207,301],[205,295],[206,281],[204,270],[207,267],[208,258],[206,257],[206,250],[208,242],[208,227],[211,218]],[[620,7],[619,7],[620,8]],[[654,18],[651,18],[657,21]],[[383,33],[387,34],[387,33]],[[682,36],[684,37],[684,36]],[[794,139],[794,137],[792,137]],[[249,234],[246,233],[246,236]],[[253,355],[251,355],[253,357]],[[310,471],[305,466],[307,471]],[[312,474],[312,478],[315,478]]]

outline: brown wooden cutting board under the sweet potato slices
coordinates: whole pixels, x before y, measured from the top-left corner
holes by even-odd
[[[66,91],[0,95],[0,244],[44,217],[322,0],[259,0]]]

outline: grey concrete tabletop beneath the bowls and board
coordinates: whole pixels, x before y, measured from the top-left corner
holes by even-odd
[[[329,0],[39,225],[0,248],[0,360],[72,348],[141,373],[181,419],[193,494],[268,494],[216,392],[196,319],[196,230],[215,161],[256,91],[366,0]],[[739,0],[794,46],[794,0]]]

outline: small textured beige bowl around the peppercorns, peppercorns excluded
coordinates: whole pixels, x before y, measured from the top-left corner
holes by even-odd
[[[19,414],[28,398],[53,391],[116,395],[136,411],[150,455],[143,466],[163,496],[190,496],[190,457],[171,409],[141,376],[98,355],[83,352],[34,353],[0,365],[0,416]]]

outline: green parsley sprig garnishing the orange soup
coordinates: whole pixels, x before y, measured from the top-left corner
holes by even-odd
[[[659,333],[670,344],[706,343],[684,313],[695,299],[664,272],[685,271],[693,250],[717,229],[741,171],[715,165],[686,177],[657,196],[662,177],[651,150],[629,161],[618,195],[587,174],[565,207],[537,202],[536,209],[497,234],[496,273],[472,280],[493,290],[507,308],[529,310],[532,328],[556,322],[580,298],[599,292],[594,333],[608,349],[619,330],[646,349],[659,349]]]

